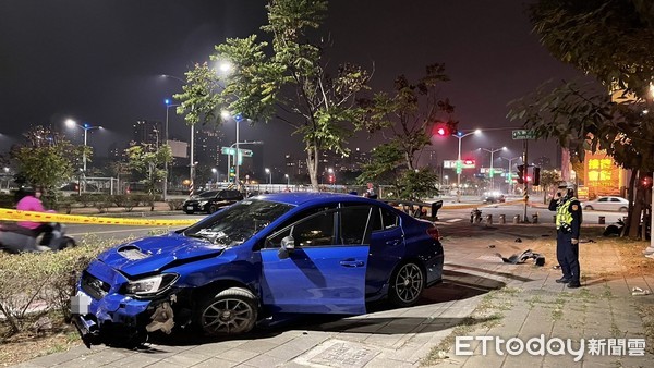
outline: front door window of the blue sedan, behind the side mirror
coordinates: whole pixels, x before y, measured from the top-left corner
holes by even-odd
[[[337,244],[334,231],[335,216],[336,209],[322,210],[291,223],[281,231],[268,236],[266,248],[279,248],[281,240],[286,236],[293,237],[295,247],[335,245]]]

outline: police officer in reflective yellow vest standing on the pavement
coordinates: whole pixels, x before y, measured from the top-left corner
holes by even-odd
[[[581,229],[581,205],[574,197],[574,185],[559,184],[556,198],[549,201],[549,210],[556,211],[556,258],[564,277],[557,283],[574,289],[579,281],[579,231]]]

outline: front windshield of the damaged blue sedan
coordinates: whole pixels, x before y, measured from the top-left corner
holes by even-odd
[[[184,235],[206,238],[214,244],[239,245],[291,208],[291,205],[268,200],[242,200],[190,226]]]

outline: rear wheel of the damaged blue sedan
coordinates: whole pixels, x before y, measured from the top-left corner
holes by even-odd
[[[410,307],[417,303],[425,287],[425,275],[414,262],[401,265],[391,275],[388,300],[396,307]]]

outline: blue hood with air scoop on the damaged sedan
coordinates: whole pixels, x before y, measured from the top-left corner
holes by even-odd
[[[102,253],[98,259],[126,274],[159,272],[171,265],[220,255],[225,245],[215,245],[202,238],[180,234],[148,236],[119,245]]]

